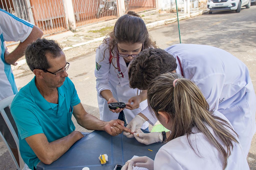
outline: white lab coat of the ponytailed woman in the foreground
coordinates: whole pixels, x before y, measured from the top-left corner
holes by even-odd
[[[215,116],[227,120],[218,111],[214,112]],[[208,126],[209,127],[209,126]],[[209,127],[210,132],[213,133],[212,128]],[[190,135],[190,142],[194,150],[188,143],[187,135],[175,138],[164,146],[162,146],[156,153],[154,160],[154,169],[156,170],[221,170],[222,158],[217,149],[212,146],[206,137],[196,130],[192,129],[195,134]],[[232,132],[231,132],[232,133]],[[216,137],[216,136],[215,136]],[[220,141],[220,140],[218,140]],[[223,145],[222,145],[223,146]],[[196,153],[197,154],[196,154]],[[241,145],[234,143],[231,155],[228,158],[228,164],[225,170],[234,169],[249,169],[246,156],[241,148]]]

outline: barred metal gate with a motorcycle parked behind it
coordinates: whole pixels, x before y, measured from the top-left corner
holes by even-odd
[[[76,26],[117,18],[116,0],[72,0]]]

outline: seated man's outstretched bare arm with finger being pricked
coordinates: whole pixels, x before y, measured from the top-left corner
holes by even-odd
[[[112,136],[119,135],[123,130],[129,131],[130,129],[124,127],[124,122],[121,120],[111,120],[104,122],[97,117],[87,113],[82,104],[79,103],[73,107],[73,115],[77,120],[77,123],[89,130],[105,130]]]

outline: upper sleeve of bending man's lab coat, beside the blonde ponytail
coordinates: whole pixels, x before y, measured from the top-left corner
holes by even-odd
[[[210,110],[218,110],[219,99],[225,82],[225,74],[209,74],[204,78],[194,82],[201,90],[206,101],[209,103]]]

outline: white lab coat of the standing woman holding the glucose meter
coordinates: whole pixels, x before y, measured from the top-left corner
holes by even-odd
[[[115,47],[116,50],[116,47]],[[104,56],[105,54],[105,56]],[[116,53],[112,54],[116,57]],[[104,56],[104,59],[103,59]],[[120,68],[124,74],[124,78],[118,78],[118,69],[116,64],[116,58],[113,58],[112,62],[115,64],[115,67],[112,63],[109,63],[109,45],[102,43],[99,48],[96,50],[96,65],[94,74],[96,77],[96,89],[98,92],[98,104],[100,110],[100,119],[103,121],[110,121],[113,119],[118,119],[119,113],[113,113],[109,110],[107,101],[101,96],[100,92],[102,90],[111,90],[113,97],[119,101],[127,103],[131,97],[136,96],[137,89],[132,89],[129,86],[129,77],[128,77],[128,68],[131,65],[131,62],[126,66],[126,63],[123,57],[119,58]],[[98,68],[98,70],[97,70]],[[140,90],[138,90],[138,95]],[[127,123],[129,123],[138,113],[144,110],[147,107],[147,100],[140,103],[140,107],[134,110],[124,109],[124,115],[126,117]],[[148,127],[148,122],[145,122],[142,126],[143,129]]]

